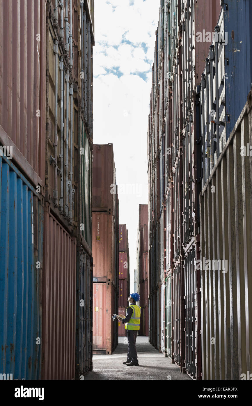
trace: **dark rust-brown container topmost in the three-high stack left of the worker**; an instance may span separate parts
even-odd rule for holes
[[[93,212],[112,212],[117,195],[113,144],[93,145]]]

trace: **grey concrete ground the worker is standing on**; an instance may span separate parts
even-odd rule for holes
[[[138,336],[136,348],[139,367],[127,367],[127,338],[119,337],[119,345],[111,355],[94,354],[93,371],[85,375],[85,380],[139,379],[139,380],[191,380],[187,374],[181,374],[178,365],[156,350],[148,342],[148,337]]]

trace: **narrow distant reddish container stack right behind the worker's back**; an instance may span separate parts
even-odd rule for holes
[[[149,253],[148,253],[148,205],[139,205],[137,240],[137,290],[142,308],[139,335],[149,335]]]

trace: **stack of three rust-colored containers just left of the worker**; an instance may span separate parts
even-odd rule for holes
[[[119,200],[113,145],[93,146],[93,353],[118,344]]]

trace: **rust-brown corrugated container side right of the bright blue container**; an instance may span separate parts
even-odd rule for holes
[[[42,379],[74,379],[76,242],[44,208]]]

